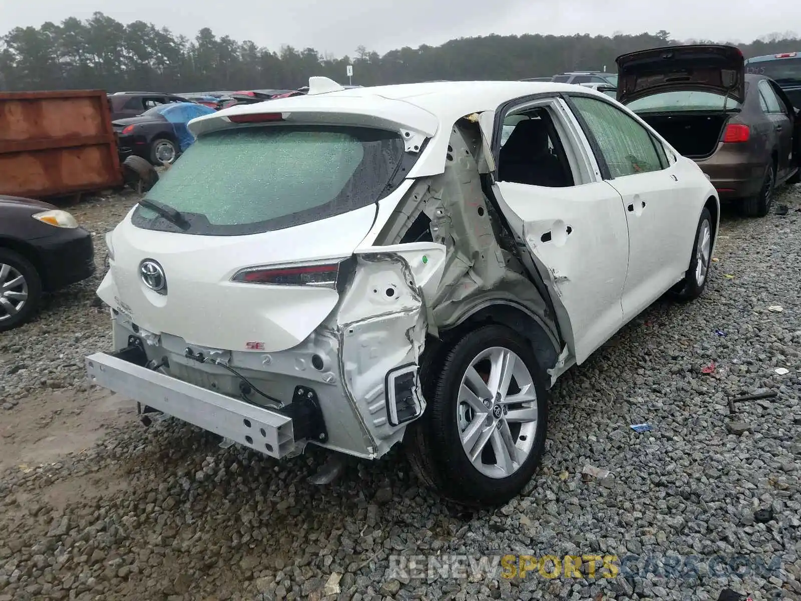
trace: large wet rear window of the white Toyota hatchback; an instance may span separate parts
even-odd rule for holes
[[[400,134],[370,127],[269,125],[201,135],[145,200],[177,211],[175,224],[138,205],[138,228],[242,236],[290,228],[376,203],[417,154]]]

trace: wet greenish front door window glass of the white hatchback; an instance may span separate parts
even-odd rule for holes
[[[586,96],[574,97],[573,102],[598,141],[613,178],[664,168],[650,132],[629,115]]]

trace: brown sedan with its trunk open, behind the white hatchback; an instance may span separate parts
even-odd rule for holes
[[[799,181],[801,117],[777,83],[746,75],[735,46],[670,46],[617,59],[618,100],[694,159],[751,216]]]

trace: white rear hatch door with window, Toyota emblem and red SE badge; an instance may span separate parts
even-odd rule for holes
[[[293,115],[199,135],[145,196],[161,212],[138,205],[113,232],[99,296],[139,328],[195,345],[276,352],[308,337],[336,306],[378,204],[411,186],[417,151],[400,130],[332,123],[354,115]]]

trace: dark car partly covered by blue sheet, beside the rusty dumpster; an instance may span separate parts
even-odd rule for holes
[[[170,103],[153,107],[138,117],[113,121],[120,159],[134,155],[153,165],[173,163],[195,140],[187,123],[214,112],[202,104]]]

